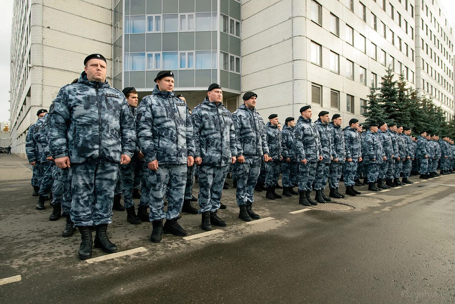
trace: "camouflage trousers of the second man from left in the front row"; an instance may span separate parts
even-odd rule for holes
[[[150,221],[166,218],[172,220],[182,211],[187,164],[160,164],[158,170],[150,170],[147,180],[149,192]],[[167,195],[167,211],[164,212],[164,196]]]

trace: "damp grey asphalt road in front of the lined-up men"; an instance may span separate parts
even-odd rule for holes
[[[77,258],[79,232],[61,237],[64,219],[48,220],[49,202],[35,210],[30,177],[25,160],[0,155],[0,279],[20,275],[0,281],[2,304],[455,302],[455,175],[373,194],[356,187],[361,196],[337,200],[352,211],[290,214],[303,209],[297,197],[257,193],[254,209],[273,219],[253,224],[237,218],[231,188],[222,232],[158,244],[151,223],[114,211],[108,233],[119,251],[146,251],[96,263]],[[179,222],[203,232],[200,216]],[[92,258],[103,256],[94,249]]]

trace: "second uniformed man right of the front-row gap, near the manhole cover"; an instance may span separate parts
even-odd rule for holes
[[[321,111],[318,114],[318,120],[316,121],[316,127],[319,132],[319,140],[321,143],[322,160],[316,165],[316,179],[314,181],[314,190],[316,190],[316,196],[314,199],[319,203],[324,204],[326,201],[332,201],[331,198],[324,194],[325,186],[327,185],[327,179],[329,178],[329,167],[330,162],[333,159],[333,142],[329,132],[329,112]]]

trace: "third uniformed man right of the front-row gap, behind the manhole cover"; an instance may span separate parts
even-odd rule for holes
[[[332,116],[332,122],[329,124],[330,141],[333,144],[332,161],[329,167],[329,188],[330,197],[344,198],[345,196],[338,192],[338,184],[343,171],[343,164],[346,160],[346,151],[344,145],[344,133],[341,130],[343,119],[340,114]]]

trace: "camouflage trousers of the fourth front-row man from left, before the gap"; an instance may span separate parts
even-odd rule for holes
[[[234,170],[237,179],[236,200],[238,206],[251,205],[254,202],[253,191],[261,170],[261,156],[243,155],[244,163],[236,161]]]

